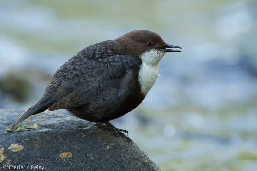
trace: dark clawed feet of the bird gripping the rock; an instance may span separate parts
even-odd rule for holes
[[[101,128],[107,128],[110,131],[114,132],[116,134],[116,137],[118,137],[120,135],[123,138],[125,138],[130,144],[132,144],[132,140],[127,136],[127,135],[129,135],[129,132],[127,130],[116,128],[110,122],[105,122],[105,124],[106,125],[96,123],[96,124],[92,125],[92,127],[97,126],[97,127],[101,127]],[[127,135],[125,135],[123,132],[127,133]]]

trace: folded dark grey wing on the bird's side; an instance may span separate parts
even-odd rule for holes
[[[49,110],[83,106],[97,99],[103,91],[119,88],[127,71],[138,69],[141,59],[132,55],[113,55],[88,68],[88,77],[73,92],[67,94]]]

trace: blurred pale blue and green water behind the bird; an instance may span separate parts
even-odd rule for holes
[[[162,171],[256,171],[256,21],[256,0],[1,0],[0,108],[33,105],[84,47],[151,30],[183,51],[164,56],[142,104],[112,123]]]

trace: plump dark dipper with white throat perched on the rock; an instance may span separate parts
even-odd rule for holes
[[[28,108],[15,125],[31,115],[67,109],[81,119],[105,123],[117,136],[132,142],[109,121],[135,109],[158,76],[158,62],[166,52],[181,52],[148,30],[135,30],[114,40],[88,46],[54,74],[43,97]],[[123,131],[123,132],[122,132]]]

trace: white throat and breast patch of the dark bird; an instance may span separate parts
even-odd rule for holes
[[[138,81],[140,84],[141,93],[143,93],[145,96],[153,87],[157,79],[159,73],[158,62],[165,55],[165,53],[166,52],[163,50],[152,49],[150,51],[146,51],[140,56],[142,64],[140,65],[138,72]]]

